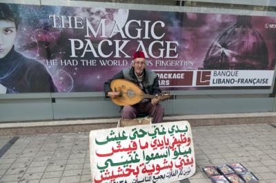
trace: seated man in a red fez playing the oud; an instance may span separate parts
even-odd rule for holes
[[[122,69],[121,72],[113,76],[104,83],[106,97],[115,98],[119,92],[112,92],[110,83],[112,80],[124,78],[136,83],[146,94],[157,95],[161,93],[159,88],[158,76],[154,72],[146,69],[146,58],[143,52],[135,52],[132,56],[132,67]],[[164,108],[159,104],[157,98],[151,100],[144,98],[135,105],[126,105],[122,109],[121,118],[133,119],[137,114],[148,113],[153,117],[153,123],[162,122]]]

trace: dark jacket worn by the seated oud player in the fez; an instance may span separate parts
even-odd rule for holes
[[[110,83],[112,82],[112,80],[119,79],[119,78],[128,79],[133,83],[136,83],[137,85],[139,85],[138,80],[135,76],[133,67],[122,69],[121,72],[119,72],[118,74],[113,76],[110,80],[104,83],[104,92],[106,92],[106,96],[108,92],[112,91],[112,89],[110,88]],[[144,87],[143,90],[146,94],[155,95],[155,94],[161,93],[157,74],[155,74],[155,72],[152,72],[148,69],[144,69],[144,80],[142,81],[142,85]]]

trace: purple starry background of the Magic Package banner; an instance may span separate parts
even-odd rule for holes
[[[137,48],[141,50],[141,45],[144,45],[148,55],[148,68],[155,70],[272,70],[275,66],[276,29],[270,26],[275,24],[275,17],[247,16],[245,21],[249,21],[250,26],[238,28],[238,16],[228,14],[28,5],[19,5],[19,8],[22,21],[17,30],[15,50],[46,65],[59,92],[103,91],[103,83],[108,78],[121,69],[131,67],[132,53]],[[54,14],[56,19],[51,17]],[[70,16],[72,27],[75,26],[74,17],[83,17],[83,21],[77,19],[81,21],[77,26],[83,25],[83,28],[69,28],[68,23],[65,23],[65,28],[62,28],[61,16],[65,16],[64,20],[67,21]],[[92,25],[96,31],[103,19],[105,19],[106,37],[103,36],[101,27],[97,36],[93,36],[92,32],[87,30],[87,25]],[[130,36],[137,36],[140,29],[141,36],[138,38],[128,36],[126,23],[130,23],[127,29]],[[152,25],[155,25],[154,28]],[[122,28],[121,32],[120,28]],[[226,31],[228,35],[224,35]],[[155,35],[151,34],[152,32]],[[253,35],[254,32],[258,34],[257,39],[252,38],[256,37]],[[110,36],[111,33],[113,36]],[[224,37],[219,39],[219,36]],[[72,39],[75,42],[72,42]],[[221,44],[222,40],[226,45]],[[153,44],[154,41],[161,42]],[[88,46],[87,50],[91,50],[88,42],[95,48],[98,57],[92,51],[83,54],[86,46]],[[116,44],[119,43],[121,46],[124,42],[126,45],[121,49],[122,52],[118,51],[119,47]],[[83,43],[83,48],[77,50],[79,43]],[[215,46],[216,43],[218,43],[217,46]],[[262,43],[265,44],[266,49],[262,48],[264,47]],[[107,58],[100,56],[99,44],[101,44],[101,52],[110,56]],[[150,44],[153,46],[148,49]],[[241,49],[243,47],[249,48],[243,50]],[[160,51],[162,49],[164,54],[159,56],[163,52]],[[75,56],[72,50],[75,50]],[[150,52],[157,58],[153,58]],[[208,52],[213,52],[211,53],[213,56],[221,56],[221,58],[226,56],[228,60],[234,61],[234,65],[208,67],[208,64],[204,65]],[[253,52],[257,52],[256,56],[252,56]],[[236,63],[239,62],[237,67]],[[261,66],[259,62],[263,62]],[[247,67],[246,63],[251,63],[251,67]]]

